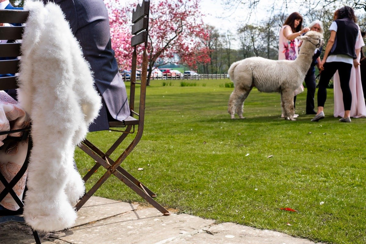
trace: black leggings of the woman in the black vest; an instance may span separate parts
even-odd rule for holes
[[[318,88],[318,106],[324,107],[326,101],[326,87],[330,79],[338,70],[341,90],[343,93],[344,110],[351,110],[352,93],[350,89],[352,64],[343,62],[329,62],[324,64],[324,70],[321,72]]]

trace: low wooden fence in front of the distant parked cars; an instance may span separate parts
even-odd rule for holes
[[[126,74],[121,74],[124,81],[130,80],[130,76]],[[182,74],[182,75],[172,75],[172,74],[163,74],[163,76],[151,77],[150,80],[207,80],[207,79],[226,79],[228,78],[227,74],[198,74],[198,75],[190,75],[190,74]],[[140,80],[140,75],[136,75],[136,79]]]

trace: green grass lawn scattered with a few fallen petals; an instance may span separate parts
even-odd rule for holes
[[[224,87],[229,79],[192,82],[197,86],[151,82],[144,135],[122,164],[157,193],[157,202],[314,241],[366,243],[366,119],[340,123],[329,89],[324,120],[305,115],[305,90],[296,100],[300,116],[285,121],[280,95],[253,89],[244,104],[246,119],[231,120],[232,88]],[[103,131],[88,138],[107,147],[116,136]],[[80,150],[76,160],[82,175],[93,165]],[[96,195],[144,201],[114,176]],[[297,212],[280,210],[286,207]]]

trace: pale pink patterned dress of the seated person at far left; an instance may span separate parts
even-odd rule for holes
[[[25,128],[29,125],[25,111],[20,108],[18,102],[12,99],[4,91],[0,91],[0,131],[9,131],[10,129]],[[10,136],[22,136],[23,132],[10,134]],[[10,182],[19,169],[22,167],[28,149],[28,140],[21,142],[12,142],[3,140],[8,135],[0,135],[0,173]],[[16,195],[22,199],[25,189],[27,173],[18,181],[13,188]],[[0,182],[0,192],[4,189],[4,185]],[[10,210],[18,210],[19,206],[14,199],[7,194],[0,202],[1,206]]]

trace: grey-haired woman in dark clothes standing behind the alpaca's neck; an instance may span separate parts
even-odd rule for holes
[[[308,26],[310,30],[318,31],[319,33],[323,34],[323,23],[320,20],[314,20],[310,23]],[[315,115],[317,112],[315,112],[314,108],[314,96],[315,96],[315,65],[317,65],[319,70],[319,64],[320,64],[320,53],[321,49],[315,49],[314,56],[313,56],[313,62],[311,62],[309,71],[307,71],[307,74],[305,76],[305,84],[307,88],[307,94],[306,94],[306,114],[307,115]]]

